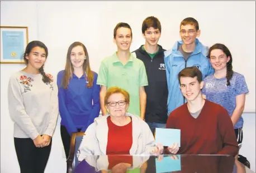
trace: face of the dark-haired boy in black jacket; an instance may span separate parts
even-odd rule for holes
[[[146,29],[143,36],[148,45],[154,46],[154,45],[157,45],[159,38],[161,36],[161,33],[160,33],[159,29],[150,27],[150,28]]]

